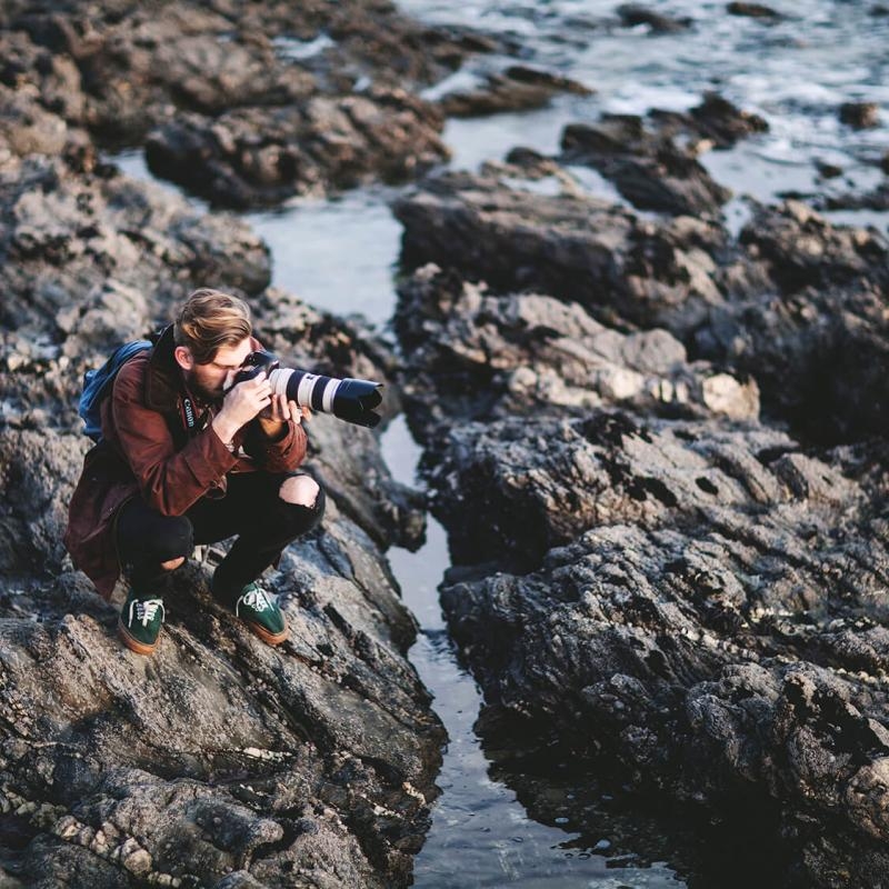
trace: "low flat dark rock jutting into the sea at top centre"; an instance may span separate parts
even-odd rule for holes
[[[440,104],[448,117],[468,118],[542,108],[553,96],[562,92],[589,96],[592,90],[570,78],[536,68],[511,66],[502,73],[490,74],[479,89],[448,93]]]

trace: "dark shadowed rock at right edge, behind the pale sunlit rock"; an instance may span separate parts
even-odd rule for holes
[[[752,373],[769,412],[807,437],[882,434],[889,243],[795,202],[757,212],[741,242],[772,284],[715,309],[696,352]]]

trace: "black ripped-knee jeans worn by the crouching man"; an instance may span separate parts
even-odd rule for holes
[[[314,528],[324,513],[319,485],[314,505],[288,503],[281,485],[306,472],[242,472],[229,476],[226,496],[202,497],[184,516],[162,516],[141,497],[127,501],[117,520],[116,542],[123,573],[137,596],[163,596],[170,572],[161,562],[188,558],[198,543],[238,535],[213,575],[213,592],[229,598],[256,580],[283,548]],[[311,477],[309,477],[311,478]]]

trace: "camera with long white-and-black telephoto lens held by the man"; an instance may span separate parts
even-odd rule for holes
[[[382,401],[382,383],[351,377],[338,380],[308,370],[282,368],[276,356],[259,350],[247,356],[234,374],[232,386],[252,380],[260,371],[266,372],[274,394],[287,396],[288,401],[296,401],[302,408],[332,413],[340,420],[369,429],[373,429],[381,419],[373,408]]]

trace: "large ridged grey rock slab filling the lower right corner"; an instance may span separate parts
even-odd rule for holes
[[[547,726],[716,812],[777,812],[809,885],[866,883],[889,866],[887,662],[862,659],[886,613],[855,590],[882,585],[887,551],[847,561],[846,582],[825,576],[859,535],[879,538],[835,535],[829,513],[809,537],[813,511],[597,527],[537,571],[453,582],[442,601],[486,700],[523,735]]]

